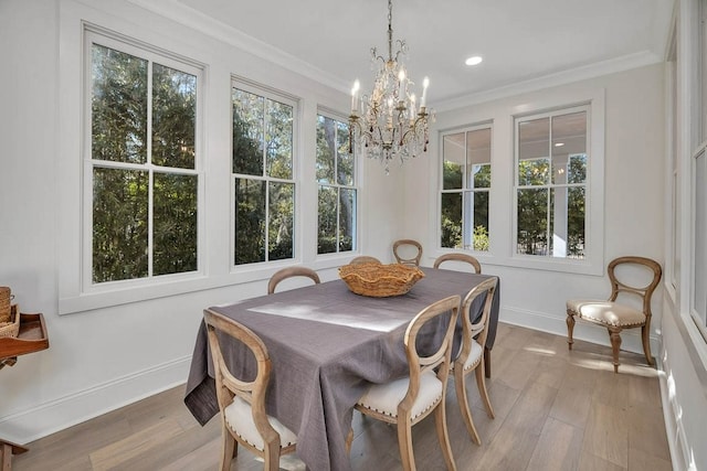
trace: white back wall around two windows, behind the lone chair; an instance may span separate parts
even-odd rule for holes
[[[564,301],[570,298],[605,298],[610,292],[605,263],[621,255],[643,255],[664,260],[664,87],[663,65],[653,65],[577,82],[534,93],[479,103],[440,113],[436,130],[493,121],[490,232],[503,246],[479,254],[484,272],[502,280],[500,319],[560,335],[567,334]],[[515,110],[542,103],[562,103],[563,97],[604,94],[604,256],[601,276],[513,266],[510,217],[513,215],[513,118]],[[566,101],[566,105],[572,105]],[[407,233],[425,240],[425,264],[441,254],[436,249],[439,139],[431,139],[428,162],[405,169]],[[591,163],[590,163],[591,164]],[[505,184],[504,184],[505,183]],[[495,186],[495,185],[500,185]],[[504,231],[504,234],[498,232]],[[492,244],[493,244],[492,235]],[[657,354],[662,290],[654,296],[652,339]],[[579,323],[578,339],[609,344],[604,329]],[[642,352],[640,331],[622,334],[622,347]]]

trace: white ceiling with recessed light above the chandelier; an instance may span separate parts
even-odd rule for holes
[[[213,19],[342,90],[356,78],[369,89],[370,49],[387,51],[387,0],[133,1],[181,9],[196,23]],[[672,9],[673,0],[394,0],[392,28],[394,40],[408,42],[418,89],[430,77],[435,106],[547,76],[659,62]],[[484,62],[464,65],[475,54]]]

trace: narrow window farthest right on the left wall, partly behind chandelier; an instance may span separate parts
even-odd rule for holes
[[[349,125],[317,116],[317,254],[356,250],[356,159]]]

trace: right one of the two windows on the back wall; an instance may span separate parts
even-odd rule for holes
[[[588,107],[515,125],[516,254],[584,258]]]

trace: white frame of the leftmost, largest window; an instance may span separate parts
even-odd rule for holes
[[[169,281],[187,281],[199,279],[203,277],[204,271],[204,254],[205,254],[205,189],[204,189],[204,165],[203,165],[203,82],[204,82],[204,66],[196,63],[189,58],[182,57],[178,54],[162,51],[155,46],[146,45],[137,40],[126,38],[124,35],[107,31],[105,29],[94,26],[92,24],[84,24],[83,30],[83,53],[82,53],[82,228],[81,228],[81,295],[105,293],[115,292],[117,290],[135,289],[135,288],[149,288],[156,285],[162,285]],[[160,65],[168,66],[170,68],[178,69],[180,72],[189,73],[197,77],[197,106],[196,106],[196,122],[194,122],[194,168],[193,169],[180,169],[180,168],[165,168],[156,165],[148,161],[144,164],[133,164],[126,162],[95,162],[92,156],[92,45],[98,44],[105,47],[109,47],[123,53],[127,53],[140,58],[149,61],[150,64],[159,63]],[[148,129],[147,136],[148,142],[151,142],[151,66],[148,67],[150,74],[148,75],[148,100],[147,100],[147,115],[148,115]],[[151,148],[150,143],[147,143],[148,149]],[[149,213],[148,225],[151,228],[152,220],[152,176],[155,172],[169,173],[169,174],[191,174],[197,176],[197,270],[180,272],[180,274],[167,274],[167,275],[152,275],[152,263],[149,263],[148,276],[144,278],[134,278],[125,280],[105,281],[101,283],[93,282],[93,170],[95,168],[112,168],[112,169],[137,169],[140,168],[149,173],[150,190],[148,193],[149,199]],[[148,234],[148,248],[150,249],[149,259],[152,259],[151,250],[152,234]]]

